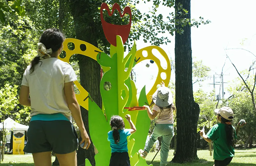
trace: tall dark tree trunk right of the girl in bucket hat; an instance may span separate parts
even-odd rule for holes
[[[190,0],[176,0],[188,10],[185,18],[190,19]],[[177,17],[176,17],[177,19]],[[176,25],[177,28],[180,28]],[[199,105],[195,103],[192,86],[191,29],[183,27],[184,34],[175,32],[175,95],[177,108],[177,149],[172,162],[190,162],[197,158],[196,135]]]

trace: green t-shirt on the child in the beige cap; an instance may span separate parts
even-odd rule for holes
[[[213,142],[213,159],[225,160],[228,157],[234,157],[234,147],[229,146],[227,142],[227,135],[225,131],[225,124],[219,123],[214,125],[206,136]],[[233,127],[233,126],[232,126]],[[234,139],[237,138],[236,130],[234,129]]]

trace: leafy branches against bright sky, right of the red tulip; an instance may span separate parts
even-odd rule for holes
[[[143,2],[146,4],[147,2],[152,1],[153,6],[150,9],[149,13],[144,13],[141,17],[138,25],[133,32],[133,35],[136,35],[139,39],[140,36],[143,36],[144,42],[147,43],[148,41],[156,46],[159,46],[160,44],[167,44],[170,43],[171,40],[165,35],[165,33],[170,33],[172,36],[174,35],[174,32],[177,32],[179,34],[183,34],[184,30],[182,27],[185,27],[187,25],[189,26],[197,26],[201,24],[209,24],[211,21],[207,20],[204,21],[204,18],[199,18],[199,20],[196,19],[188,19],[185,16],[189,14],[189,11],[184,9],[182,7],[182,4],[175,4],[174,0],[143,0]],[[137,4],[140,3],[140,1],[134,1]],[[158,7],[160,5],[163,5],[167,7],[167,10],[170,10],[170,8],[174,7],[176,10],[175,12],[170,12],[169,15],[164,18],[162,14],[157,14]],[[140,16],[140,13],[138,13],[138,16]],[[192,23],[191,23],[192,21]],[[181,28],[175,27],[175,25],[181,25]]]

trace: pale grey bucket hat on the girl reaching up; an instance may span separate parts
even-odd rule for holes
[[[172,92],[167,87],[159,87],[152,95],[153,102],[159,107],[167,107],[172,104]]]

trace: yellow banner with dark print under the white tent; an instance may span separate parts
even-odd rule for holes
[[[25,131],[13,131],[13,155],[24,155]]]

